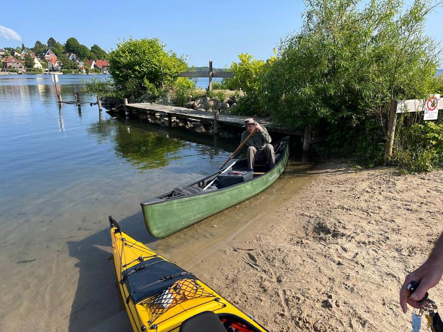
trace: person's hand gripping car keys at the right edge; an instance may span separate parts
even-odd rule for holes
[[[431,257],[417,270],[408,274],[400,289],[400,306],[403,313],[408,311],[406,303],[414,308],[420,308],[420,300],[425,296],[429,288],[432,288],[439,283],[440,279],[442,279],[442,275],[443,262]],[[410,294],[407,289],[407,286],[411,281],[420,283],[412,294]]]

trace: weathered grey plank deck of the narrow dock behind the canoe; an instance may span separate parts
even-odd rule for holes
[[[186,119],[200,120],[205,122],[214,121],[213,112],[197,111],[185,107],[166,106],[166,105],[151,104],[151,103],[132,103],[132,104],[127,104],[126,107],[132,110],[142,110],[142,111],[160,113],[168,116],[175,116]],[[219,124],[222,125],[241,127],[243,126],[244,120],[248,117],[249,116],[219,114],[218,122]],[[269,118],[255,117],[254,119],[261,125],[265,126],[270,132],[304,136],[303,131],[293,131],[283,126],[277,126]]]

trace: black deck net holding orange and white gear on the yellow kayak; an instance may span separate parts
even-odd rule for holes
[[[162,292],[147,298],[139,304],[146,305],[151,309],[151,316],[148,323],[154,324],[155,321],[170,308],[184,301],[199,297],[215,297],[215,295],[203,289],[203,287],[193,279],[181,279]]]

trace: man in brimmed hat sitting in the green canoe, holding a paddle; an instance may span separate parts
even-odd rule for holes
[[[265,127],[254,121],[253,118],[246,119],[243,127],[246,130],[241,134],[240,142],[244,142],[246,138],[256,129],[255,133],[249,138],[249,140],[237,151],[237,153],[229,156],[229,159],[238,158],[239,155],[246,150],[246,156],[248,158],[248,168],[250,171],[254,170],[254,164],[267,163],[269,168],[273,168],[276,164],[276,155],[274,152],[274,146],[272,146],[271,136]]]

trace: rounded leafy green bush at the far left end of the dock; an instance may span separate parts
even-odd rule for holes
[[[172,88],[187,68],[183,59],[164,48],[158,39],[131,38],[109,53],[111,76],[129,99],[151,95],[154,100],[165,88]]]

